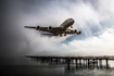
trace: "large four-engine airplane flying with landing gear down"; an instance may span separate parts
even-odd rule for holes
[[[74,20],[73,18],[67,18],[66,21],[64,21],[59,27],[34,27],[34,26],[25,26],[25,28],[33,28],[36,30],[41,30],[41,31],[47,31],[47,33],[51,33],[52,36],[60,36],[62,37],[63,35],[71,35],[71,34],[81,34],[81,31],[77,31],[77,29],[69,29],[68,27],[73,28],[73,24],[74,24]]]

